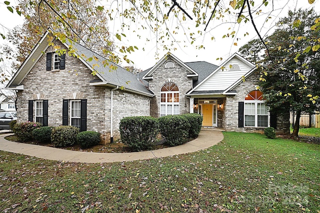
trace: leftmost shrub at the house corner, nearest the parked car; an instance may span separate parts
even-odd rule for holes
[[[32,139],[32,130],[41,126],[38,122],[20,122],[14,124],[12,131],[19,140],[28,141]]]

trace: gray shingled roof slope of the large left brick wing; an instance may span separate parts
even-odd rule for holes
[[[70,44],[70,43],[67,43],[67,44]],[[76,53],[79,56],[84,54],[85,57],[89,58],[94,55],[98,58],[98,61],[94,59],[91,61],[85,60],[85,58],[83,59],[90,67],[94,67],[94,69],[98,72],[98,74],[101,77],[103,77],[106,83],[112,84],[115,86],[123,86],[126,89],[142,92],[148,95],[153,95],[151,91],[149,91],[139,80],[136,79],[136,75],[132,74],[131,72],[127,71],[126,69],[122,68],[121,66],[109,60],[108,60],[109,64],[104,66],[102,64],[102,61],[107,60],[106,58],[82,46],[79,43],[74,42],[72,43],[72,46],[74,49],[76,49]],[[94,64],[97,64],[97,66]],[[109,68],[110,65],[115,66],[116,69],[110,70]]]

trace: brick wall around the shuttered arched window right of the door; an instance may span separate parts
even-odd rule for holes
[[[238,102],[244,101],[245,95],[252,90],[255,90],[255,85],[258,83],[258,73],[252,73],[249,77],[245,78],[244,82],[238,84],[234,89],[236,95],[229,95],[226,97],[224,105],[224,128],[227,131],[242,131],[242,132],[255,132],[261,131],[263,127],[238,127]],[[286,121],[287,119],[287,121]],[[289,133],[289,116],[277,114],[277,133]],[[270,120],[268,120],[270,123]]]

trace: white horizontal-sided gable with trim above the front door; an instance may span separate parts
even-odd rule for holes
[[[234,53],[189,92],[225,91],[253,71],[255,65]]]

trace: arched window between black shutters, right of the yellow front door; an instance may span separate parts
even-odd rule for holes
[[[250,91],[244,98],[244,126],[267,127],[268,108],[262,100],[262,92]]]

